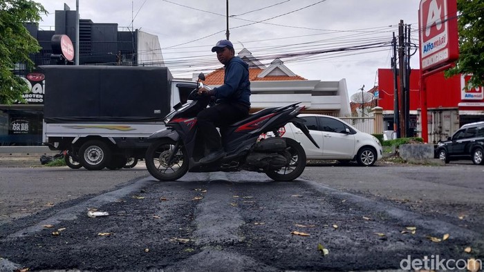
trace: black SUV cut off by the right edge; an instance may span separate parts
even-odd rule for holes
[[[446,164],[454,159],[472,159],[474,164],[484,164],[484,122],[465,124],[436,148],[439,159]]]

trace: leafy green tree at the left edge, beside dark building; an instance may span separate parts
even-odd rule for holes
[[[0,0],[0,104],[24,101],[26,81],[13,74],[15,64],[34,66],[29,54],[39,52],[37,39],[25,28],[25,22],[38,22],[47,10],[30,0]]]

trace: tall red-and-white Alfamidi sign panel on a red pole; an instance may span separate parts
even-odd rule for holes
[[[458,59],[456,0],[420,1],[418,22],[422,70],[431,70]]]

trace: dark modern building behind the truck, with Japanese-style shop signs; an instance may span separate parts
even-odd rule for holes
[[[41,50],[31,57],[36,67],[59,64],[58,59],[52,58],[54,35],[67,35],[73,44],[79,43],[80,65],[165,66],[156,35],[140,30],[120,30],[117,23],[80,19],[79,41],[76,41],[75,20],[75,10],[64,4],[64,10],[55,11],[54,30],[43,30],[37,23],[26,23],[30,35],[41,46]],[[61,64],[73,63],[65,61]],[[14,73],[27,81],[30,93],[24,95],[27,104],[0,104],[0,146],[41,145],[46,88],[43,75],[26,70],[23,64],[17,64]]]

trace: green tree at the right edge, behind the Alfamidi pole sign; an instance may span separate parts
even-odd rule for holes
[[[484,0],[457,0],[459,58],[447,77],[472,74],[465,88],[484,86]]]

